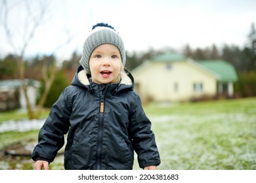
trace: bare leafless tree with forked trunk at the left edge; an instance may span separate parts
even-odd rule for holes
[[[41,110],[43,108],[43,105],[45,103],[45,99],[49,93],[49,90],[51,88],[51,85],[53,84],[54,77],[56,75],[56,64],[53,64],[51,66],[51,73],[50,75],[47,75],[47,67],[46,65],[43,66],[42,72],[43,72],[43,81],[45,82],[45,90],[43,91],[43,95],[39,101],[39,105],[37,105],[36,108],[32,108],[32,104],[30,102],[30,97],[28,96],[28,85],[25,80],[25,61],[24,56],[26,53],[26,50],[28,48],[28,45],[32,42],[35,32],[37,31],[39,25],[42,24],[43,18],[45,18],[45,14],[47,12],[47,1],[37,1],[39,3],[39,10],[33,10],[32,13],[30,3],[28,1],[22,1],[24,3],[24,7],[26,10],[26,21],[24,22],[24,35],[18,35],[19,37],[23,37],[21,44],[16,43],[14,32],[17,31],[15,29],[11,29],[9,26],[9,15],[11,14],[11,8],[6,0],[2,0],[1,6],[2,6],[2,20],[3,20],[3,29],[5,30],[5,34],[7,36],[7,39],[9,41],[9,44],[12,48],[12,51],[14,52],[14,55],[18,58],[18,72],[19,77],[22,82],[22,91],[24,92],[25,99],[26,99],[26,108],[28,112],[28,118],[39,118],[39,114],[41,113]],[[21,1],[18,1],[17,3],[21,3]],[[28,25],[29,24],[29,25]]]

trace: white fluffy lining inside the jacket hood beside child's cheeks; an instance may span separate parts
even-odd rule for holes
[[[133,82],[131,81],[131,78],[129,76],[127,76],[127,74],[125,72],[121,72],[120,73],[121,76],[121,82],[120,84],[125,84],[125,85],[132,85]],[[79,73],[77,74],[78,80],[84,84],[84,85],[89,85],[89,80],[87,78],[87,73],[86,71],[83,69],[81,71],[79,71]]]

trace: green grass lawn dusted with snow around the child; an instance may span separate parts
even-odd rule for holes
[[[158,169],[256,169],[256,98],[151,103],[144,110],[152,121],[160,150]],[[5,113],[3,116],[9,120],[15,115]],[[0,133],[0,146],[22,139],[37,139],[37,133],[36,130]],[[0,160],[0,166],[1,163],[6,165],[7,162]],[[57,157],[51,169],[63,169],[61,164],[62,157]],[[5,167],[8,169],[8,165]],[[31,165],[27,167],[30,169]],[[134,168],[139,169],[137,159]]]

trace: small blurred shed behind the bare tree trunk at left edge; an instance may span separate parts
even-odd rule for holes
[[[37,90],[40,82],[37,80],[25,80],[28,86],[28,96],[32,107],[36,105]],[[15,108],[26,109],[26,99],[22,90],[21,80],[0,80],[0,111]]]

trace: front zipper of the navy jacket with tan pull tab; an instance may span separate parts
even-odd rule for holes
[[[103,123],[104,123],[104,95],[100,92],[100,118],[98,124],[98,147],[97,147],[97,164],[96,169],[100,170],[100,161],[102,156],[102,137],[103,137]]]

